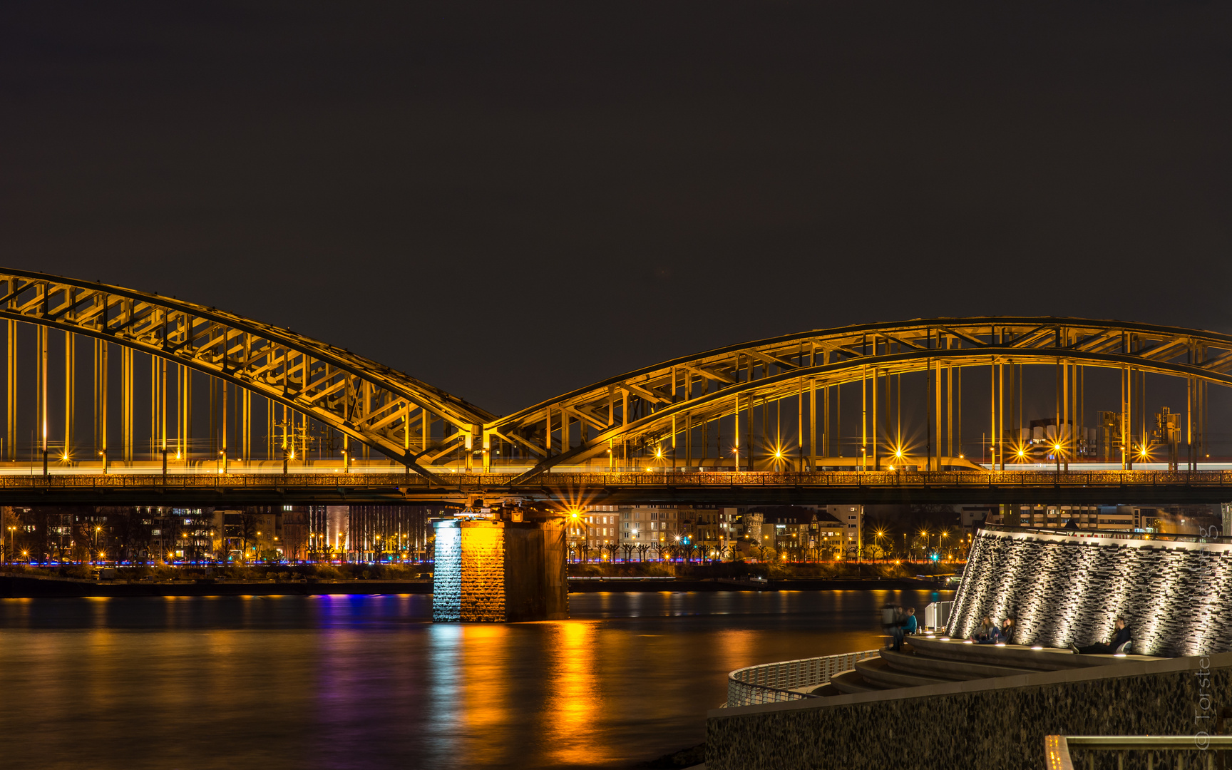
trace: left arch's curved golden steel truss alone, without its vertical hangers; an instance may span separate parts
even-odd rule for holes
[[[488,411],[347,350],[181,299],[41,272],[0,270],[0,318],[63,329],[172,361],[308,414],[430,476],[416,425],[478,436]],[[471,444],[471,441],[466,441]],[[453,442],[451,442],[451,446]]]

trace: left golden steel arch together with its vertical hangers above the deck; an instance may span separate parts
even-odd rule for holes
[[[121,352],[121,413],[124,460],[133,460],[133,362],[132,354],[149,354],[152,367],[152,445],[165,461],[169,450],[168,365],[182,367],[180,383],[191,382],[184,370],[202,372],[238,388],[238,423],[243,453],[251,453],[251,394],[310,416],[347,439],[397,457],[408,469],[426,474],[416,462],[430,453],[430,428],[452,428],[453,437],[435,447],[447,453],[460,442],[471,444],[483,423],[493,415],[347,350],[251,319],[175,298],[138,292],[105,283],[76,281],[39,272],[0,272],[0,318],[9,319],[7,333],[7,453],[16,460],[17,425],[17,326],[25,322],[37,329],[36,411],[42,425],[42,452],[48,455],[48,338],[52,329],[65,338],[65,441],[73,446],[75,352],[73,335],[92,338],[95,345],[95,448],[106,463],[108,457],[107,344]],[[225,394],[225,392],[224,392]],[[176,394],[191,403],[191,392]],[[224,397],[223,407],[228,399]],[[290,414],[287,418],[290,419]],[[176,415],[184,429],[185,415]],[[227,421],[223,420],[225,428]],[[222,434],[224,461],[234,447]],[[294,447],[280,447],[293,455]],[[184,453],[184,451],[181,451]],[[64,452],[68,457],[68,451]]]

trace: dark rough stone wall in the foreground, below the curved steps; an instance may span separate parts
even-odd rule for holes
[[[706,768],[1039,770],[1045,736],[1226,733],[1218,719],[1230,706],[1226,653],[717,708],[706,721]],[[1195,755],[1186,766],[1198,766]],[[1095,766],[1115,763],[1104,754]],[[1145,755],[1131,753],[1125,768],[1146,768]]]

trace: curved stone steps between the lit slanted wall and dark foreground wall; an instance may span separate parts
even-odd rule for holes
[[[909,637],[903,644],[903,652],[883,649],[878,658],[856,662],[855,670],[835,675],[829,684],[812,692],[814,695],[875,692],[1158,659],[1124,654],[1077,655],[1068,649],[1021,644],[975,644],[963,639],[923,634]]]

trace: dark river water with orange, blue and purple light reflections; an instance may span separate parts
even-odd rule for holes
[[[877,646],[928,591],[0,600],[9,768],[630,768],[701,743],[728,670]],[[945,598],[949,598],[946,594]]]

